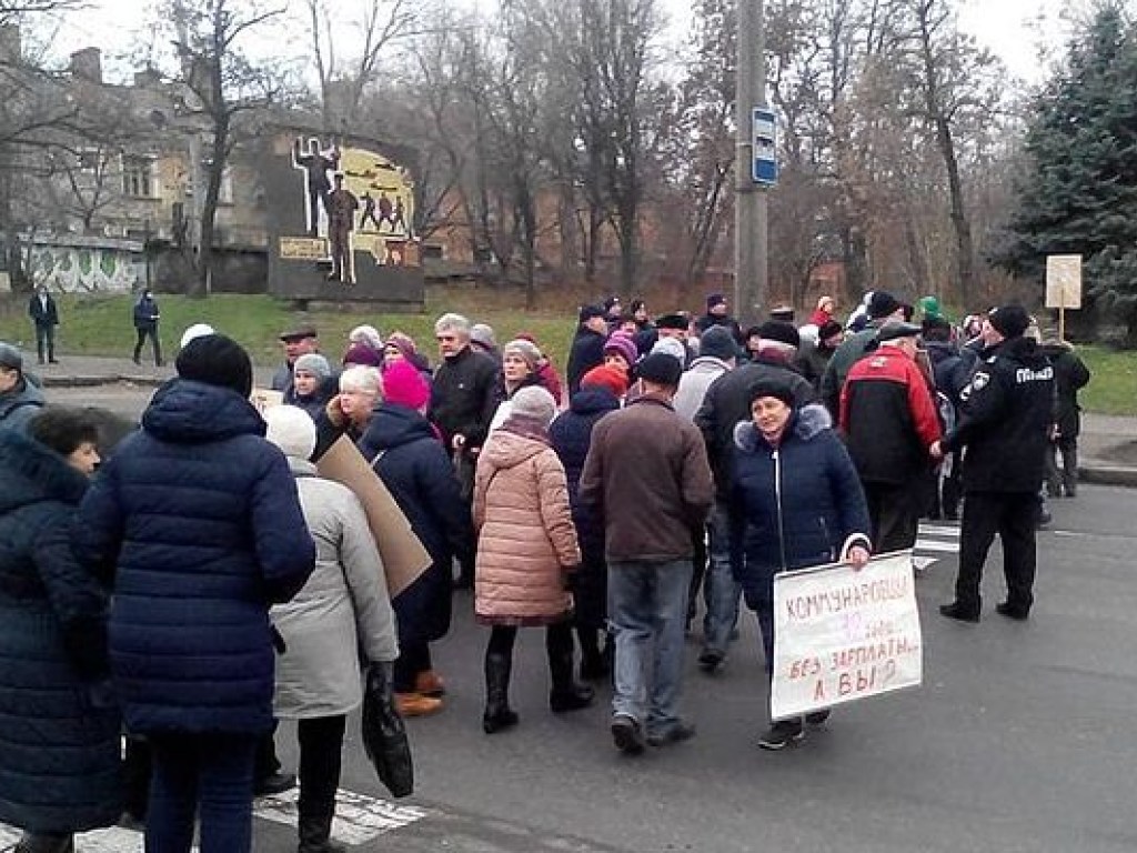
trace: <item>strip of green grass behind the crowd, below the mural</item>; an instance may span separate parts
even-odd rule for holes
[[[56,348],[61,355],[128,356],[134,346],[132,320],[133,298],[130,296],[61,296],[60,326]],[[277,336],[299,318],[313,322],[319,330],[323,350],[339,359],[347,349],[348,332],[357,325],[370,323],[383,334],[399,330],[412,338],[432,359],[434,321],[446,312],[465,314],[475,323],[489,323],[499,343],[518,332],[532,334],[541,348],[563,368],[576,328],[575,312],[571,309],[539,309],[526,312],[521,306],[520,291],[481,288],[429,289],[426,308],[420,314],[381,314],[367,310],[313,310],[298,314],[287,303],[267,296],[217,295],[208,299],[188,299],[168,293],[158,295],[161,308],[159,336],[163,351],[171,357],[186,326],[209,323],[221,332],[240,341],[252,361],[272,365],[280,361]],[[17,297],[9,310],[0,314],[0,340],[15,343],[25,353],[35,350],[35,333],[25,314],[26,298]]]

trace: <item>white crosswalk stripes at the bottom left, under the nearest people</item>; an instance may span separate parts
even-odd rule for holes
[[[297,797],[293,788],[271,797],[258,797],[254,803],[254,821],[267,820],[296,827]],[[340,789],[335,795],[335,820],[332,840],[349,847],[367,844],[384,833],[414,823],[426,817],[426,810],[413,805],[397,805],[389,800]],[[254,833],[256,827],[254,826]],[[22,833],[0,823],[0,851],[16,846]],[[76,836],[76,850],[83,853],[141,853],[142,834],[123,827],[109,827]],[[197,846],[193,847],[197,851]]]

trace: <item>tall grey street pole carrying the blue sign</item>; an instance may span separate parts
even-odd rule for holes
[[[765,106],[766,63],[763,0],[738,0],[735,116],[735,312],[746,323],[766,314],[766,188],[753,180],[755,107]]]

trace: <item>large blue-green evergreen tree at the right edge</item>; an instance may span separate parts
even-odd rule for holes
[[[993,260],[1041,282],[1047,255],[1081,255],[1085,308],[1137,346],[1137,32],[1097,9],[1032,105],[1016,210]]]

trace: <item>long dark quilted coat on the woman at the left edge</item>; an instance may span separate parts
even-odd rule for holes
[[[0,431],[0,822],[66,835],[122,810],[107,594],[70,550],[88,479]]]

